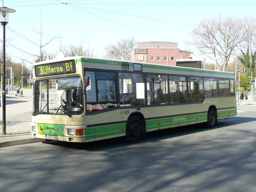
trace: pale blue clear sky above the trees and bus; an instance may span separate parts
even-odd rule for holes
[[[202,58],[185,43],[191,40],[190,34],[200,21],[220,15],[256,17],[255,0],[4,0],[4,4],[1,1],[4,7],[16,10],[9,13],[6,26],[6,54],[14,62],[25,60],[28,68],[36,58],[24,52],[39,55],[41,25],[43,44],[58,37],[44,47],[47,52],[59,52],[60,45],[82,44],[83,50],[89,49],[93,57],[101,58],[106,56],[108,45],[134,37],[137,42],[178,43],[181,50],[191,50],[195,57]]]

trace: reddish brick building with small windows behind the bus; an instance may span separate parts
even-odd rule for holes
[[[131,60],[176,66],[177,59],[188,59],[192,53],[180,50],[178,43],[149,41],[137,43],[135,50],[131,51]]]

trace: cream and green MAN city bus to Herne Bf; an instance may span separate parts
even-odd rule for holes
[[[236,116],[235,74],[142,62],[69,57],[33,65],[31,134],[91,142],[137,142],[191,124]]]

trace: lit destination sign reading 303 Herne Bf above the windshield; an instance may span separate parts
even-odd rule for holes
[[[75,60],[35,65],[36,77],[75,73]]]

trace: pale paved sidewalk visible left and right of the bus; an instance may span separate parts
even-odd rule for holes
[[[248,97],[249,105],[237,105],[237,113],[256,111],[256,101]],[[45,141],[31,136],[32,107],[32,89],[23,89],[23,97],[15,96],[14,91],[6,95],[6,135],[0,124],[0,148]]]

